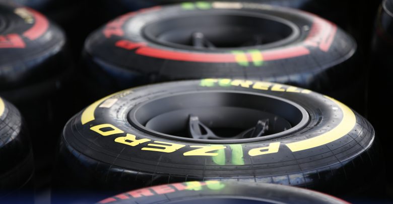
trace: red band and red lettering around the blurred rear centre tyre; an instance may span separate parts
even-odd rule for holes
[[[159,8],[152,8],[146,11],[156,10]],[[146,11],[140,11],[141,13]],[[105,37],[109,38],[112,35],[123,36],[122,26],[126,20],[135,16],[136,13],[129,13],[121,16],[117,20],[109,23],[104,29]],[[334,37],[337,33],[337,26],[329,21],[323,20],[317,16],[312,15],[314,22],[309,32],[308,37],[301,43],[273,50],[260,51],[263,61],[287,59],[299,57],[310,54],[310,50],[306,46],[318,47],[320,50],[327,52],[333,44]],[[233,53],[200,53],[184,50],[169,50],[150,47],[145,42],[133,42],[126,39],[119,40],[115,46],[127,50],[137,49],[136,54],[177,60],[177,61],[193,61],[193,62],[207,62],[207,63],[237,63],[236,55]],[[252,62],[252,57],[246,54],[246,60]]]

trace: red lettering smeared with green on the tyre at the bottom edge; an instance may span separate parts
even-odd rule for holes
[[[184,182],[184,183],[173,183],[173,184],[166,184],[166,185],[159,185],[159,186],[153,186],[149,188],[142,188],[138,190],[132,190],[128,191],[122,194],[115,195],[110,198],[106,198],[104,200],[101,200],[99,203],[110,203],[118,200],[124,200],[124,199],[130,199],[130,198],[139,198],[139,197],[147,197],[147,196],[153,196],[153,195],[161,195],[161,194],[167,194],[167,193],[173,193],[177,191],[183,191],[183,190],[194,190],[194,191],[200,191],[204,189],[204,186],[206,186],[208,189],[211,190],[222,190],[225,188],[225,184],[220,182],[220,181],[190,181],[190,182]]]

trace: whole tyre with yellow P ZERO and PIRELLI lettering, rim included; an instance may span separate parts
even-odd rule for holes
[[[119,193],[222,179],[371,195],[383,175],[374,138],[359,114],[306,89],[231,79],[163,83],[110,95],[71,118],[54,186]]]

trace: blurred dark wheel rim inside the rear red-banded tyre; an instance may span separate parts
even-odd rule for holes
[[[285,19],[235,11],[163,19],[142,32],[157,44],[193,50],[266,49],[286,45],[300,35],[299,28]]]

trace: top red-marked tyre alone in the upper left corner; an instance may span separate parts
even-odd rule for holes
[[[1,91],[41,82],[64,70],[58,66],[64,54],[65,36],[42,14],[2,3]],[[6,67],[8,69],[6,69]]]

